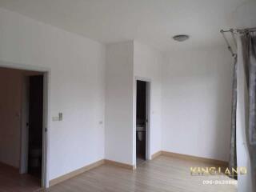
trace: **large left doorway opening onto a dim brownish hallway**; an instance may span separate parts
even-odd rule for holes
[[[46,186],[48,73],[0,67],[0,74],[0,177],[9,183],[0,190],[32,192]]]

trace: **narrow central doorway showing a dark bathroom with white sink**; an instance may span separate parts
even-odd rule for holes
[[[149,125],[149,86],[150,82],[137,80],[136,91],[136,164],[147,159],[147,135]]]

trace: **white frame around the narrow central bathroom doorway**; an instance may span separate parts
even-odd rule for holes
[[[136,76],[134,79],[134,164],[137,166],[136,154],[136,120],[137,120],[137,81],[146,82],[146,160],[150,160],[150,98],[151,98],[151,79]]]

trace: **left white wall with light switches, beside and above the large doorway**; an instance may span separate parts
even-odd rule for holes
[[[104,158],[105,46],[3,9],[0,42],[1,63],[50,69],[49,178]]]

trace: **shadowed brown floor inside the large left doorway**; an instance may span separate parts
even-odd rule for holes
[[[40,190],[40,180],[18,169],[0,163],[0,192],[34,192]]]

